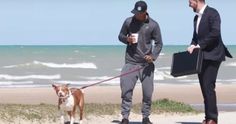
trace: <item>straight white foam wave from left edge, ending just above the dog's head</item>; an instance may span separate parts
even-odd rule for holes
[[[47,79],[47,80],[55,80],[60,79],[61,75],[26,75],[26,76],[12,76],[8,74],[0,74],[0,79],[5,80],[26,80],[26,79]]]

